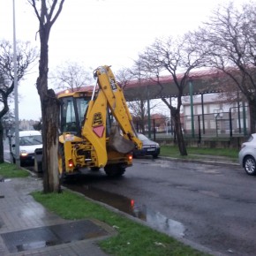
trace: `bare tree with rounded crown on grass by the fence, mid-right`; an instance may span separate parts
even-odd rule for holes
[[[147,47],[143,54],[139,55],[141,68],[147,73],[149,79],[153,79],[159,85],[160,90],[158,94],[162,102],[170,109],[181,155],[187,155],[180,121],[182,96],[184,94],[184,87],[187,86],[189,73],[192,69],[200,67],[200,56],[188,43],[189,41],[186,37],[177,40],[169,37],[164,41],[156,39],[151,46]],[[162,72],[169,72],[174,81],[174,86],[177,87],[177,106],[172,106],[165,98],[165,95],[162,94]],[[183,75],[178,76],[177,74],[180,73]]]

